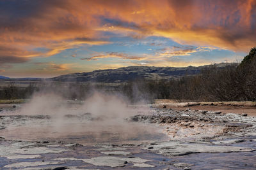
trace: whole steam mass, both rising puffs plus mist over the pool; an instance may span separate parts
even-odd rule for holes
[[[131,106],[117,94],[93,92],[85,101],[67,101],[53,93],[40,93],[24,104],[21,113],[51,117],[23,132],[27,137],[40,134],[40,138],[99,143],[144,139],[154,133],[149,125],[127,121],[133,115],[148,113],[148,107]]]

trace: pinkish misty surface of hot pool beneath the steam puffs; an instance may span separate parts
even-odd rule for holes
[[[6,139],[22,140],[60,140],[80,143],[140,143],[147,140],[167,139],[161,129],[151,124],[122,122],[118,125],[100,124],[62,124],[56,127],[50,124],[10,126],[1,131]]]

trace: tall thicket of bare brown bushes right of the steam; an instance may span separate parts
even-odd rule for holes
[[[120,90],[131,101],[174,99],[177,101],[256,101],[256,48],[240,64],[212,65],[195,76],[172,80],[137,80]]]

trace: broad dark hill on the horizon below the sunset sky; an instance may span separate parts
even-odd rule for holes
[[[234,65],[234,63],[214,64],[216,67],[225,67]],[[237,64],[236,64],[237,65]],[[202,69],[207,66],[188,66],[188,67],[150,67],[150,66],[130,66],[120,67],[118,69],[95,70],[88,73],[72,73],[49,78],[51,81],[68,82],[102,82],[102,83],[120,83],[131,81],[137,78],[149,80],[178,78],[184,75],[200,74]]]

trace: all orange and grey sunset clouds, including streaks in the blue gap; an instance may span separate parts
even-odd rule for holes
[[[243,52],[255,46],[256,39],[254,0],[0,1],[0,16],[1,65],[51,57],[80,46],[106,45],[113,36],[160,36],[182,45]],[[120,53],[89,60],[106,57],[140,60]]]

